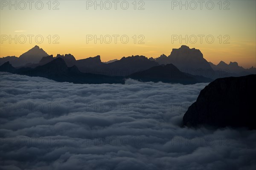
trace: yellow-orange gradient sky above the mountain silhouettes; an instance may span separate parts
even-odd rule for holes
[[[25,0],[25,2],[27,2]],[[76,59],[94,57],[101,55],[102,61],[111,59],[120,59],[123,56],[144,55],[146,57],[159,57],[161,54],[167,56],[171,53],[172,48],[179,48],[181,45],[188,45],[190,48],[200,49],[204,54],[204,58],[215,64],[221,60],[229,63],[230,61],[239,62],[244,68],[256,66],[256,1],[255,0],[230,0],[211,1],[214,3],[212,10],[211,2],[203,1],[202,9],[198,0],[195,3],[187,1],[186,6],[172,0],[144,0],[136,1],[136,10],[134,10],[134,0],[127,0],[129,7],[125,8],[125,2],[119,1],[117,9],[111,0],[112,8],[107,10],[104,8],[105,1],[102,1],[102,10],[97,6],[96,10],[93,6],[87,6],[87,3],[95,1],[85,0],[59,0],[51,1],[51,9],[47,4],[49,0],[42,0],[44,7],[41,10],[40,2],[34,1],[29,9],[29,3],[26,3],[25,9],[23,3],[17,1],[17,9],[11,6],[9,9],[9,0],[1,0],[0,11],[0,57],[20,56],[30,48],[38,45],[48,54],[73,54]],[[7,6],[6,6],[6,3]],[[12,1],[15,4],[15,1]],[[97,1],[100,3],[100,1]],[[186,3],[186,1],[182,1]],[[208,3],[208,6],[206,5]],[[144,5],[143,5],[144,4]],[[19,6],[20,5],[20,6]],[[58,5],[58,10],[52,8]],[[144,10],[138,10],[143,5]],[[227,6],[228,5],[228,6]],[[224,7],[230,8],[224,10]],[[87,9],[88,7],[88,9]],[[108,8],[109,4],[105,3]],[[26,37],[25,43],[12,40],[3,40],[5,37],[11,36],[23,41],[23,35]],[[27,35],[34,35],[32,42],[29,43]],[[35,36],[41,35],[44,41],[39,44],[35,41]],[[51,42],[49,43],[50,35]],[[54,35],[58,35],[58,44],[53,44]],[[111,35],[112,41],[107,44],[103,41],[101,44],[98,40],[89,41],[87,43],[87,35],[96,35],[103,37]],[[112,35],[119,35],[117,43],[115,43]],[[122,35],[129,37],[128,43],[124,44],[120,41]],[[134,44],[134,35],[137,42]],[[139,35],[143,35],[144,44],[139,44],[141,39]],[[186,35],[195,35],[197,41],[188,43],[183,40],[172,42],[173,35],[185,37]],[[204,35],[202,42],[198,35]],[[206,37],[212,35],[213,43],[207,43]],[[219,42],[221,35],[221,43]],[[224,37],[225,35],[228,35]],[[230,39],[224,44],[224,40]],[[191,41],[195,39],[191,37]],[[38,39],[40,41],[40,38]],[[123,39],[125,40],[125,38]],[[208,39],[209,41],[211,38]],[[108,38],[106,39],[108,41]]]

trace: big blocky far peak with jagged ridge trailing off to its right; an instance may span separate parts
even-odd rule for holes
[[[237,62],[230,62],[230,64],[227,65],[225,62],[221,61],[218,65],[214,65],[212,62],[208,62],[204,59],[200,50],[195,48],[190,49],[186,45],[182,45],[178,49],[172,49],[168,57],[162,54],[160,57],[157,57],[155,61],[165,65],[172,63],[182,72],[211,79],[256,74],[256,68],[244,69],[239,66]]]

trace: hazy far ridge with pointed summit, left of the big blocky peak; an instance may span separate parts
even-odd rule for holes
[[[48,55],[37,45],[20,57],[8,56],[0,58],[0,65],[9,61],[15,68],[35,68],[51,62],[56,58],[64,59],[68,67],[76,65],[79,71],[83,73],[102,74],[107,76],[128,76],[137,71],[146,70],[158,65],[157,62],[151,61],[145,56],[122,57],[120,60],[115,59],[110,62],[102,62],[99,55],[79,60],[76,60],[72,54],[57,54],[56,57],[53,57],[53,55]]]

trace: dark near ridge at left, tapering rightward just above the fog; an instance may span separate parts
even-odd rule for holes
[[[13,74],[27,75],[31,77],[45,77],[57,82],[73,82],[80,84],[102,84],[102,83],[125,83],[123,77],[110,77],[100,74],[82,73],[73,65],[68,67],[64,59],[55,58],[45,65],[39,65],[35,68],[14,68],[9,62],[0,66],[0,71]]]

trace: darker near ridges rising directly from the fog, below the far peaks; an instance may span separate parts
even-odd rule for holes
[[[73,83],[125,83],[125,79],[136,79],[142,82],[170,82],[181,84],[195,84],[199,82],[211,82],[212,79],[193,76],[179,71],[174,65],[160,65],[149,68],[145,71],[139,71],[128,76],[106,76],[102,74],[82,73],[76,65],[68,67],[61,57],[53,58],[52,61],[44,65],[38,65],[35,68],[22,67],[14,68],[10,62],[5,62],[0,66],[0,71],[21,74],[32,77],[45,77],[58,82]],[[45,59],[45,58],[44,58]]]

